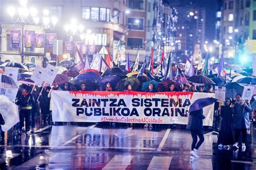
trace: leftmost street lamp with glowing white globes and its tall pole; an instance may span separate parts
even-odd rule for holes
[[[22,45],[21,45],[21,56],[22,56],[22,63],[24,63],[24,24],[25,23],[38,23],[39,22],[39,19],[37,16],[37,10],[35,8],[33,8],[33,6],[28,9],[26,7],[26,3],[27,1],[26,0],[20,0],[19,1],[19,6],[17,9],[14,8],[14,6],[10,6],[8,8],[8,13],[11,17],[11,21],[12,23],[21,23],[22,25]],[[17,11],[17,15],[18,17],[16,19],[14,19],[14,16],[15,16],[15,13]],[[31,15],[32,17],[32,21],[31,19],[29,19],[29,14]]]

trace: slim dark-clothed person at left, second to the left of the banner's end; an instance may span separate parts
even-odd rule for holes
[[[35,126],[36,126],[36,117],[39,114],[39,104],[38,104],[38,97],[39,97],[39,91],[37,87],[35,86],[33,91],[32,91],[32,96],[35,99],[35,102],[32,105],[32,110],[31,110],[31,133],[35,132]]]

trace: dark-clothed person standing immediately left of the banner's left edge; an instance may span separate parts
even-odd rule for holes
[[[42,90],[42,87],[39,91]],[[41,107],[41,113],[43,115],[43,121],[46,121],[46,118],[50,114],[50,98],[48,97],[48,94],[51,90],[51,87],[44,87],[43,91],[39,97],[40,107]]]

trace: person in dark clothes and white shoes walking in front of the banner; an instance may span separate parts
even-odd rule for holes
[[[190,154],[195,158],[199,158],[197,150],[204,142],[204,134],[202,131],[203,119],[205,119],[203,108],[190,112],[188,115],[187,129],[190,130],[193,139]],[[199,141],[197,141],[197,137],[199,137]]]

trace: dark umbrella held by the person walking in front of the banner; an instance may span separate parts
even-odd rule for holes
[[[215,98],[212,98],[212,97],[197,99],[196,101],[194,101],[194,103],[192,103],[190,105],[190,110],[188,112],[191,113],[191,112],[194,112],[194,111],[198,111],[201,108],[212,105],[216,101],[218,101],[218,100],[215,99]]]

